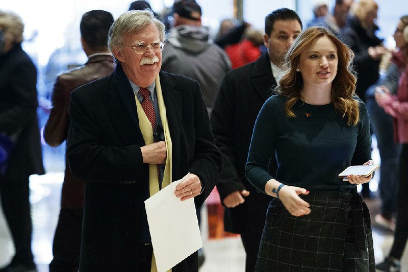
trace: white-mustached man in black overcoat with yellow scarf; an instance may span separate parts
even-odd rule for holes
[[[86,181],[81,271],[154,269],[144,201],[185,177],[174,193],[199,206],[218,180],[199,85],[160,71],[164,37],[151,11],[123,13],[109,31],[115,71],[71,94],[67,157]],[[172,271],[198,271],[197,262],[195,252]]]

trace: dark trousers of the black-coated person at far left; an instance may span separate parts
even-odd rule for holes
[[[0,195],[15,246],[13,263],[34,267],[29,176],[0,176]]]

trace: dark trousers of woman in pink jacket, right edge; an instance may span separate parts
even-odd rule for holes
[[[402,144],[399,161],[399,187],[397,199],[397,226],[394,233],[394,243],[392,245],[390,256],[401,259],[405,244],[408,239],[408,143]]]

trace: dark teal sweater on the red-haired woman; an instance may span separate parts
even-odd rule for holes
[[[298,101],[293,106],[296,117],[289,118],[285,102],[286,97],[273,95],[263,105],[253,129],[246,178],[261,191],[272,178],[308,190],[354,188],[338,175],[350,165],[371,159],[366,105],[359,100],[360,121],[347,126],[333,104],[313,106]],[[276,177],[271,177],[267,167],[275,155],[278,168]]]

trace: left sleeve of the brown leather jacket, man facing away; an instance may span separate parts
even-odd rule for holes
[[[60,145],[66,140],[69,128],[69,91],[61,77],[58,77],[53,90],[53,108],[44,129],[44,139],[51,146]]]

